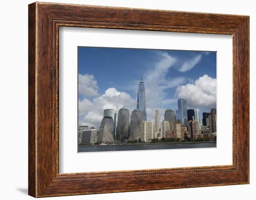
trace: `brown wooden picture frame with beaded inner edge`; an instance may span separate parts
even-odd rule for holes
[[[249,16],[36,2],[28,6],[28,25],[29,195],[48,197],[249,183]],[[60,26],[232,35],[233,164],[59,174]]]

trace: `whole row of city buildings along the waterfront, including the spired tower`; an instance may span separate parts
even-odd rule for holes
[[[97,132],[93,127],[79,126],[78,144],[122,144],[147,142],[205,141],[216,138],[216,109],[202,113],[199,109],[187,110],[187,100],[177,100],[177,110],[166,109],[160,122],[160,110],[155,119],[147,120],[145,83],[138,84],[137,106],[129,113],[124,106],[118,110],[105,109]],[[175,114],[176,113],[176,114]],[[202,123],[202,126],[201,126]]]

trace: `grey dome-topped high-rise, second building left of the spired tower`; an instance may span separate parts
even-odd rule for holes
[[[130,113],[126,107],[122,107],[117,116],[115,140],[126,140],[129,138]]]

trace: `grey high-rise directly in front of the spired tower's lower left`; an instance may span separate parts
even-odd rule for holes
[[[141,138],[141,121],[143,121],[142,112],[139,109],[135,109],[131,114],[130,122],[130,139],[139,140]]]

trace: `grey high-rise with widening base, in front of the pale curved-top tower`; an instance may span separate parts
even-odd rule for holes
[[[105,116],[101,120],[98,142],[113,143],[114,142],[113,127],[114,127],[113,118],[111,116]]]

